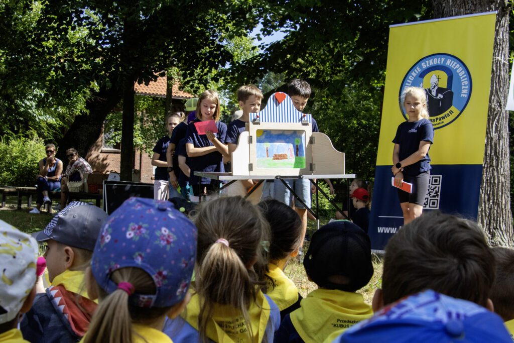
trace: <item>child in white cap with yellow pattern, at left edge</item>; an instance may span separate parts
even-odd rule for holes
[[[17,327],[34,300],[36,256],[34,239],[0,220],[0,342],[29,342]]]

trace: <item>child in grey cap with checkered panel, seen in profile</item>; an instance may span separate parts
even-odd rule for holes
[[[96,206],[71,202],[43,231],[34,234],[37,241],[47,242],[51,286],[36,296],[22,319],[21,330],[32,343],[77,342],[87,331],[97,303],[87,295],[84,270],[106,218]]]

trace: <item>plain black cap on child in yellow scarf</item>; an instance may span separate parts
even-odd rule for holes
[[[370,238],[349,221],[324,225],[311,237],[303,266],[319,287],[346,292],[360,290],[374,272]]]

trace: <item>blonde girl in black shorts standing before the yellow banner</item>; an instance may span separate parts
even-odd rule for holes
[[[401,94],[401,101],[409,119],[398,125],[396,130],[391,171],[397,187],[401,187],[403,181],[412,183],[412,193],[398,189],[405,225],[423,212],[432,169],[428,151],[434,142],[434,128],[428,120],[427,97],[423,88],[406,88]]]

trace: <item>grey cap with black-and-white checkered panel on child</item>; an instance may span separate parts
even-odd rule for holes
[[[73,201],[48,223],[43,231],[32,236],[38,242],[54,240],[76,248],[93,251],[107,213],[80,201]]]

